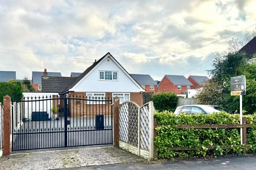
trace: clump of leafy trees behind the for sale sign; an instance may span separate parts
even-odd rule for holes
[[[256,63],[248,62],[244,53],[217,55],[209,74],[213,77],[197,95],[199,104],[220,105],[230,111],[239,108],[239,96],[230,96],[230,78],[246,76],[246,95],[243,96],[243,110],[256,112]]]

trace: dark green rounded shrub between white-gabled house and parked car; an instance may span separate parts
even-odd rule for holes
[[[159,112],[174,111],[178,97],[173,92],[162,92],[161,94],[154,94],[151,100],[154,102],[155,109]]]

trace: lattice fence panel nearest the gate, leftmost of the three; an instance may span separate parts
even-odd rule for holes
[[[128,142],[128,112],[129,103],[122,104],[119,108],[119,137],[124,142]]]

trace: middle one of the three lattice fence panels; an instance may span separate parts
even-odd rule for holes
[[[129,103],[128,142],[134,146],[138,146],[138,109],[138,106]]]

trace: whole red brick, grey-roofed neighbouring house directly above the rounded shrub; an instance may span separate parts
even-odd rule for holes
[[[193,87],[193,84],[183,75],[164,75],[157,89],[158,92],[170,91],[177,94],[177,96],[186,97],[186,92],[191,87]]]

